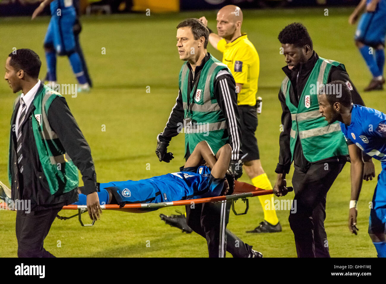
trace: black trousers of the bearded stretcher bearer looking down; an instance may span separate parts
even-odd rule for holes
[[[288,221],[295,235],[298,257],[330,257],[324,228],[326,197],[344,164],[312,164],[307,172],[295,167],[292,177],[294,210],[290,211]]]

